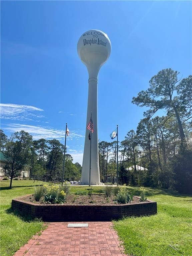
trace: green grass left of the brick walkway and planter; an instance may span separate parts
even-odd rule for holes
[[[30,180],[17,181],[13,180],[13,188],[9,189],[10,181],[3,180],[1,186],[1,206],[0,206],[0,225],[1,225],[1,256],[13,255],[21,246],[36,233],[41,232],[43,222],[40,220],[26,221],[13,213],[9,213],[11,201],[19,196],[32,194],[33,186],[45,182],[33,183]]]

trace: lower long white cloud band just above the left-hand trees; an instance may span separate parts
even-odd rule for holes
[[[33,139],[63,139],[65,138],[65,130],[57,130],[52,127],[42,127],[42,126],[34,126],[34,125],[25,125],[25,124],[4,124],[2,127],[3,130],[9,132],[18,132],[24,130],[33,136]],[[70,139],[78,139],[84,137],[83,135],[74,133],[70,131],[69,137]]]

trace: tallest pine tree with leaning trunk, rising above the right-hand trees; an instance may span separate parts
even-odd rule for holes
[[[146,91],[139,92],[137,97],[133,97],[132,103],[138,106],[146,106],[150,109],[146,115],[152,116],[159,109],[165,109],[167,112],[173,112],[177,118],[177,124],[181,141],[185,142],[185,134],[181,117],[184,116],[184,109],[181,106],[179,97],[176,94],[179,72],[172,69],[163,69],[153,76],[149,81],[150,87]]]

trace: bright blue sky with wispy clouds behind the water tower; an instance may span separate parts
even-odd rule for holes
[[[192,70],[191,1],[1,1],[1,129],[56,138],[82,163],[88,73],[79,37],[105,32],[112,45],[98,81],[98,136],[136,130],[144,108],[131,103],[158,71]],[[162,113],[159,113],[162,114]]]

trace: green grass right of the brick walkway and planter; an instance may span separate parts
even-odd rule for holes
[[[129,188],[134,195],[138,188]],[[134,256],[192,255],[192,197],[146,188],[158,214],[113,221],[125,253]]]

